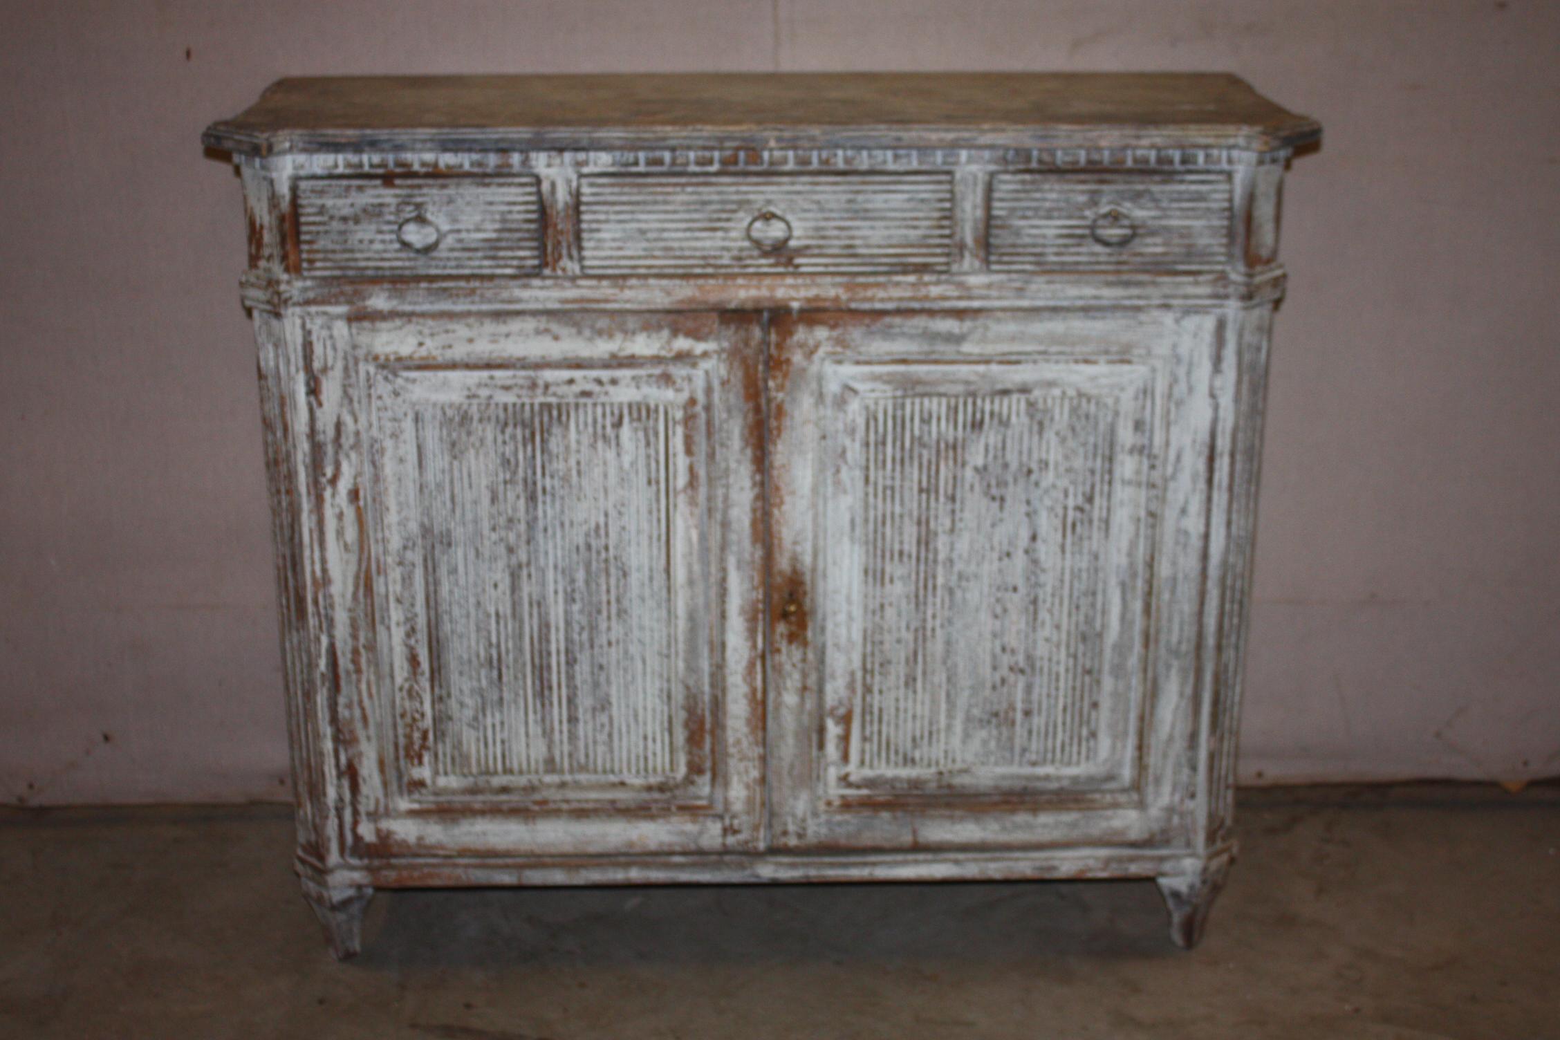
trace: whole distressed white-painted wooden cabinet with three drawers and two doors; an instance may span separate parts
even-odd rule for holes
[[[1231,781],[1279,181],[1221,75],[284,80],[298,872],[1156,878]]]

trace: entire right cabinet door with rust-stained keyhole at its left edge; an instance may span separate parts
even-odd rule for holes
[[[1184,844],[1223,329],[774,320],[771,844]]]

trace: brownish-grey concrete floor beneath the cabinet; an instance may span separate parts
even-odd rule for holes
[[[1560,787],[1242,798],[1148,883],[392,892],[329,960],[279,808],[0,814],[0,1037],[1560,1038]]]

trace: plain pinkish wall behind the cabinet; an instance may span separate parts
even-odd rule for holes
[[[1245,781],[1560,772],[1551,0],[0,0],[0,798],[285,795],[232,173],[303,73],[1236,72],[1287,184]]]

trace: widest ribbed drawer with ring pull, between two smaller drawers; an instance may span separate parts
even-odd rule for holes
[[[941,271],[945,173],[594,175],[580,181],[587,274]]]

